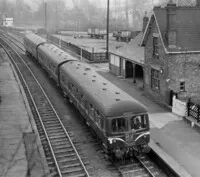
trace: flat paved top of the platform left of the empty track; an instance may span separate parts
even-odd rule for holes
[[[0,48],[0,176],[25,177],[23,133],[31,132],[26,107],[8,60]]]

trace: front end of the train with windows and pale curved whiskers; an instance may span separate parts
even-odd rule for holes
[[[147,153],[150,141],[148,114],[114,117],[109,120],[108,149],[110,153],[120,149],[123,152]]]

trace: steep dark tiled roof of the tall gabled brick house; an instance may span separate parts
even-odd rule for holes
[[[176,7],[176,42],[177,47],[169,49],[166,40],[167,11],[166,8],[154,8],[153,15],[157,21],[164,46],[169,52],[200,51],[200,8]],[[145,35],[148,35],[146,33]]]

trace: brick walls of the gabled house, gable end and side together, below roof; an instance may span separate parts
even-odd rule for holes
[[[169,104],[170,90],[186,97],[200,95],[200,53],[166,54],[161,38],[158,39],[159,59],[153,57],[153,33],[158,34],[155,22],[149,32],[145,46],[145,91],[155,100]],[[159,74],[160,89],[151,88],[151,68],[162,70]],[[180,92],[180,82],[185,82],[185,92]]]

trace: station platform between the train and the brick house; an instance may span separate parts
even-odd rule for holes
[[[181,117],[148,98],[144,91],[130,80],[118,78],[96,67],[97,72],[129,95],[143,103],[149,111],[151,148],[164,159],[180,177],[200,175],[200,133]]]

